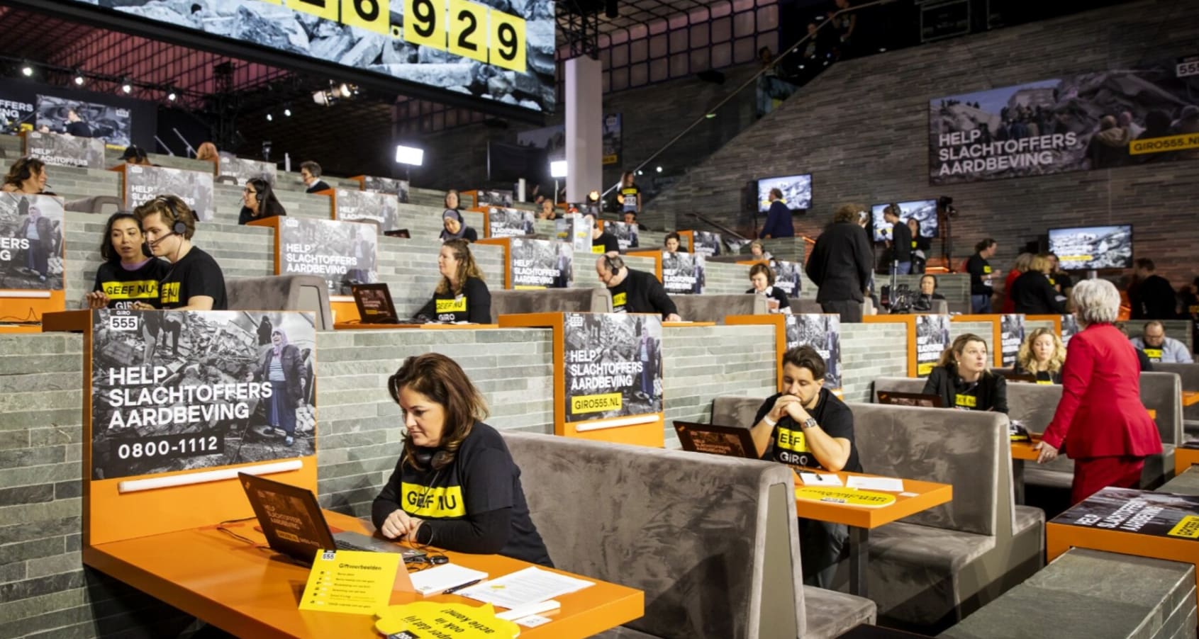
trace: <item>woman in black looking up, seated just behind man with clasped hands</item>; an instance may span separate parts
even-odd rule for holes
[[[1007,380],[990,372],[987,343],[974,333],[958,336],[924,382],[947,408],[1007,414]]]

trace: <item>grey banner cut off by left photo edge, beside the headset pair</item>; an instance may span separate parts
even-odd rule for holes
[[[62,290],[62,207],[54,195],[0,197],[0,290]]]

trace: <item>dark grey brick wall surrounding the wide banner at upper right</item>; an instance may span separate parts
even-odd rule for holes
[[[1153,258],[1158,272],[1181,285],[1195,275],[1199,162],[932,187],[928,101],[1192,55],[1197,41],[1199,13],[1158,0],[839,62],[694,167],[657,210],[694,210],[745,228],[752,223],[741,212],[747,180],[812,171],[813,209],[795,218],[801,234],[817,235],[843,201],[950,195],[960,211],[956,260],[992,236],[999,240],[992,263],[1006,271],[1019,248],[1050,227],[1132,222],[1135,255]]]

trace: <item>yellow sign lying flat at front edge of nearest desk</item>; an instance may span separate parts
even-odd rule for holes
[[[512,639],[520,628],[496,619],[495,608],[464,603],[416,602],[390,605],[378,613],[375,629],[384,637],[453,637],[454,639]]]

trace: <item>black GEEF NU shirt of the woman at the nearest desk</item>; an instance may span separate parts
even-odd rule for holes
[[[487,545],[480,538],[498,543],[499,554],[552,566],[546,543],[529,517],[524,489],[520,487],[520,469],[512,460],[504,438],[490,426],[475,422],[470,434],[462,441],[450,465],[433,470],[417,469],[405,464],[403,458],[387,486],[372,505],[372,519],[381,526],[396,510],[424,522],[417,537],[446,550],[464,553],[481,551]],[[489,513],[507,517],[495,519]],[[505,530],[470,530],[471,520],[494,525],[506,519]],[[428,531],[428,532],[426,532]]]

